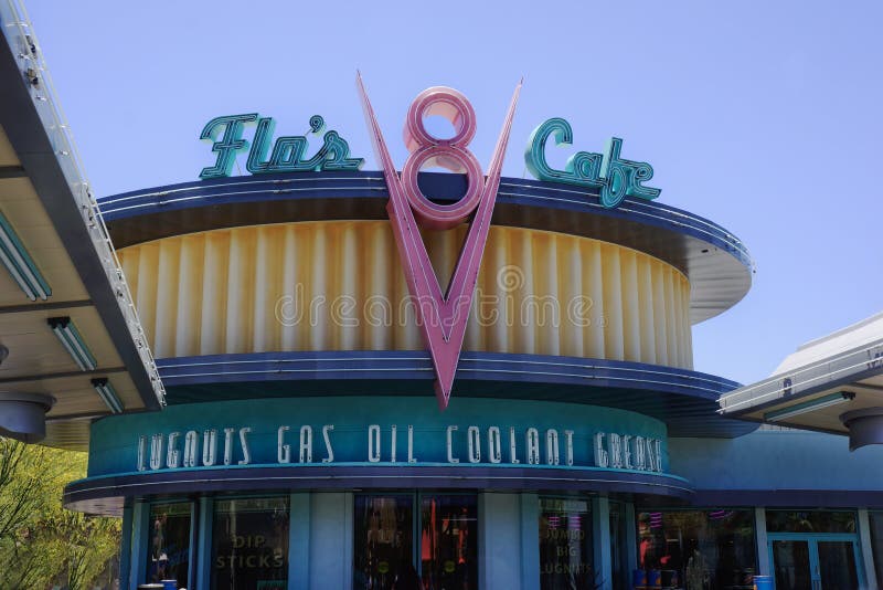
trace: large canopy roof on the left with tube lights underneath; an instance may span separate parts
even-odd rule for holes
[[[23,7],[0,29],[0,433],[36,403],[47,444],[84,450],[91,419],[164,392]]]

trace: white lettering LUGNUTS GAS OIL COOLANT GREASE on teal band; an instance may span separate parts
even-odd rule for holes
[[[339,434],[340,430],[348,434]],[[118,441],[115,445],[121,446]],[[124,450],[130,449],[125,446]],[[398,424],[377,423],[366,428],[348,424],[338,433],[334,424],[320,426],[308,423],[281,424],[275,431],[269,426],[187,428],[185,432],[141,434],[136,449],[136,468],[139,472],[274,463],[328,466],[334,463],[470,463],[664,471],[661,439],[631,432],[587,432],[585,429],[538,428],[532,424],[519,428],[418,425],[416,429],[414,424],[401,424],[401,432]]]

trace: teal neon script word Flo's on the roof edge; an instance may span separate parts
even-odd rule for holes
[[[225,115],[210,120],[200,134],[200,139],[212,141],[212,151],[217,152],[214,166],[202,169],[201,179],[230,176],[236,155],[248,148],[248,141],[242,138],[245,125],[255,122],[257,129],[246,164],[246,169],[253,175],[359,170],[365,161],[350,158],[349,144],[334,130],[325,134],[322,146],[309,158],[305,156],[309,147],[306,135],[278,137],[267,157],[276,122],[270,117],[258,117],[257,113]],[[325,119],[313,115],[309,125],[309,133],[319,135],[325,129]]]

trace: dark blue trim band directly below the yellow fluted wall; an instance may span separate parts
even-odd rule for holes
[[[157,361],[169,403],[262,397],[432,394],[426,351],[260,352]],[[567,386],[567,387],[561,387]],[[619,408],[667,423],[671,436],[741,436],[757,424],[719,415],[717,399],[738,383],[641,362],[466,351],[454,394]]]

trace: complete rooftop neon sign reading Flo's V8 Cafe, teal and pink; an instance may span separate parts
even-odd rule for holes
[[[468,147],[476,134],[476,114],[462,94],[435,86],[417,95],[405,119],[404,141],[409,155],[400,176],[361,75],[358,76],[358,86],[390,193],[386,210],[398,255],[408,291],[417,301],[417,320],[433,360],[436,398],[444,410],[457,371],[521,84],[512,95],[487,175]],[[442,139],[432,135],[424,125],[424,118],[432,115],[448,119],[456,129],[454,137]],[[212,151],[217,157],[214,166],[202,170],[200,178],[230,176],[237,155],[248,149],[243,131],[246,125],[252,124],[256,124],[256,129],[246,169],[253,175],[358,170],[364,164],[362,158],[350,157],[349,144],[334,130],[325,133],[322,146],[312,156],[307,156],[307,136],[320,135],[325,129],[325,120],[319,115],[310,117],[307,134],[278,137],[273,143],[273,118],[248,113],[216,117],[205,125],[200,138],[212,141]],[[647,200],[659,197],[660,189],[643,186],[652,179],[653,168],[647,162],[623,159],[623,140],[618,137],[608,140],[603,154],[577,151],[570,157],[564,170],[552,168],[546,160],[545,148],[550,137],[554,138],[555,145],[571,145],[573,129],[570,123],[560,117],[551,118],[531,134],[524,159],[528,170],[536,179],[593,189],[597,191],[602,206],[608,209],[619,207],[626,197]],[[423,193],[417,180],[421,169],[426,166],[465,175],[466,193],[450,204],[432,201]],[[449,230],[469,220],[466,241],[447,292],[443,293],[419,230]]]

